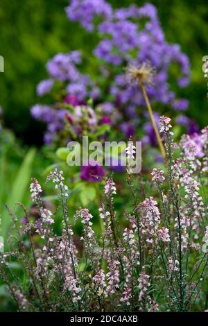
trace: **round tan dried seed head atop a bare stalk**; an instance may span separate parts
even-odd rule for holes
[[[130,85],[153,84],[155,73],[155,67],[152,67],[147,62],[143,62],[141,65],[131,63],[125,69],[126,80]]]

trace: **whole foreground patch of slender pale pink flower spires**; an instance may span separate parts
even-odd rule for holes
[[[149,189],[136,189],[134,180],[128,178],[133,207],[130,213],[123,214],[126,219],[121,216],[121,223],[114,209],[116,185],[108,178],[103,191],[105,199],[97,214],[93,216],[89,209],[80,208],[73,216],[73,223],[79,219],[81,225],[75,235],[75,225],[68,216],[68,189],[62,171],[55,169],[46,181],[52,181],[60,193],[64,228],[57,235],[53,230],[55,215],[44,207],[42,189],[37,180],[32,180],[31,198],[40,219],[34,223],[28,215],[19,228],[14,218],[20,246],[16,251],[0,254],[1,279],[19,310],[205,309],[207,289],[203,281],[207,277],[208,226],[206,200],[200,196],[200,179],[204,180],[207,173],[202,170],[205,157],[186,156],[184,137],[182,145],[177,146],[180,153],[174,151],[170,122],[166,117],[161,119],[167,173],[153,170],[153,187],[157,186],[154,197],[149,196]],[[201,137],[202,151],[206,153],[207,128],[202,130]],[[92,223],[98,215],[103,229],[101,236],[96,234]],[[38,241],[36,231],[41,237]],[[10,271],[9,263],[14,259],[24,268],[24,282]]]

